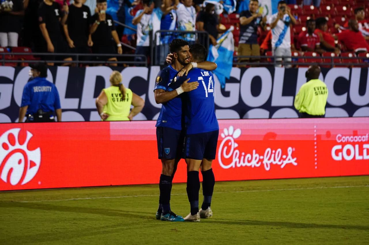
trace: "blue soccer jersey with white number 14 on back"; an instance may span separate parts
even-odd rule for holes
[[[187,134],[200,134],[218,130],[219,125],[214,106],[213,73],[194,68],[189,71],[187,78],[190,78],[189,82],[199,82],[197,89],[186,93],[185,122]]]

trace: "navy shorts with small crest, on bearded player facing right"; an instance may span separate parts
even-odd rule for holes
[[[167,127],[156,127],[156,141],[158,143],[159,159],[184,158],[184,133]]]

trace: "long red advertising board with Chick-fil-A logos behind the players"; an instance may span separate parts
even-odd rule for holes
[[[219,120],[215,179],[369,174],[369,118]],[[159,182],[155,122],[0,124],[0,191]],[[179,164],[174,182],[186,181]]]

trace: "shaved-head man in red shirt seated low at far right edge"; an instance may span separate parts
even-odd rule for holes
[[[348,26],[348,30],[337,33],[335,37],[338,41],[343,43],[348,51],[353,51],[356,54],[369,52],[369,44],[359,31],[358,21],[356,19],[350,19]]]

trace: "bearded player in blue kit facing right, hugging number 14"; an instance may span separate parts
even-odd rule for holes
[[[170,45],[173,54],[173,62],[161,70],[155,79],[155,101],[162,103],[162,108],[156,122],[156,138],[158,142],[158,156],[162,161],[162,173],[160,175],[159,209],[156,219],[167,221],[183,221],[170,210],[170,191],[172,189],[173,175],[178,161],[182,158],[183,138],[182,130],[182,96],[183,92],[189,92],[199,86],[197,79],[189,82],[186,79],[177,82],[176,74],[184,65],[191,61],[189,45],[182,39],[174,39]],[[216,64],[205,61],[201,64],[193,63],[202,68],[214,70]]]

